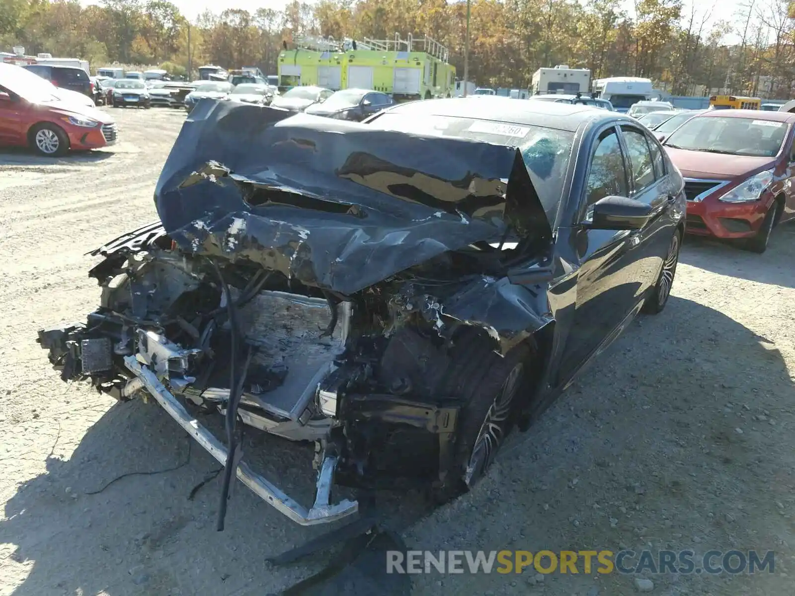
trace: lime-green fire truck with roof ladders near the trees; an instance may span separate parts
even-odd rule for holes
[[[335,41],[296,36],[279,54],[279,89],[318,85],[339,89],[374,89],[397,101],[452,97],[456,68],[448,49],[430,37],[394,40]]]

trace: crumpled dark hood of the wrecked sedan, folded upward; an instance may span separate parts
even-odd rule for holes
[[[155,202],[182,250],[344,294],[508,227],[552,237],[518,149],[236,102],[192,111]]]

